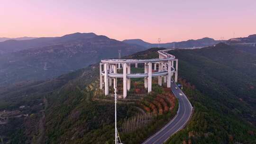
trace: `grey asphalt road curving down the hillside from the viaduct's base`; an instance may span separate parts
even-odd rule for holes
[[[172,82],[171,90],[173,91],[175,97],[179,100],[179,109],[177,115],[167,125],[149,137],[142,144],[164,144],[170,136],[181,130],[189,121],[189,118],[192,115],[192,105],[183,91],[179,88],[175,89],[175,87],[178,88],[178,86]],[[182,94],[182,96],[180,94]]]

